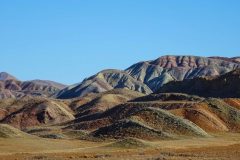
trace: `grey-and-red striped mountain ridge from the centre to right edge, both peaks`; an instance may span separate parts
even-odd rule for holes
[[[61,90],[56,97],[81,97],[91,92],[99,93],[114,88],[127,88],[149,94],[171,81],[218,76],[236,68],[240,68],[237,57],[163,56],[153,61],[136,63],[125,71],[104,70]]]

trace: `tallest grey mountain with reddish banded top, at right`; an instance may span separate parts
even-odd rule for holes
[[[163,56],[153,61],[139,62],[126,71],[147,84],[155,92],[162,85],[203,76],[217,76],[236,68],[240,63],[197,56]]]

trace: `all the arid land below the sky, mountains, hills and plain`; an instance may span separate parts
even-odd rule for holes
[[[163,56],[71,86],[0,74],[0,159],[239,160],[237,58]]]

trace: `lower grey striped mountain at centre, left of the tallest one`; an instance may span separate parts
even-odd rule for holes
[[[88,93],[100,93],[115,88],[129,89],[144,94],[150,94],[152,92],[147,85],[134,79],[125,71],[104,70],[85,79],[78,85],[63,89],[56,97],[60,99],[82,97]]]

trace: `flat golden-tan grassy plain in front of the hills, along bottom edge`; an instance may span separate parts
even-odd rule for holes
[[[113,142],[0,138],[1,160],[148,159],[239,160],[240,134],[216,134],[210,138],[146,142],[144,148],[109,147]]]

